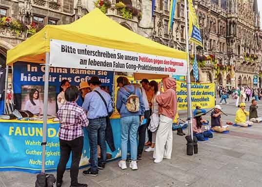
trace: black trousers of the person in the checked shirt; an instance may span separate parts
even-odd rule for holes
[[[59,143],[60,143],[60,160],[57,167],[57,181],[58,182],[62,181],[66,164],[69,160],[70,153],[72,152],[70,177],[71,177],[71,185],[76,186],[78,184],[79,163],[83,150],[83,136],[80,136],[70,141],[59,139]]]

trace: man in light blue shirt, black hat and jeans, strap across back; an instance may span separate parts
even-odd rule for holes
[[[90,162],[91,167],[83,171],[84,175],[97,176],[98,169],[105,167],[106,160],[106,144],[105,144],[105,130],[106,130],[106,116],[113,111],[111,96],[102,91],[100,88],[101,81],[97,76],[92,76],[88,82],[92,92],[87,93],[84,98],[82,108],[87,112],[89,125],[87,127],[89,144],[90,144]],[[98,93],[97,93],[98,92]],[[100,95],[100,94],[101,95]],[[106,102],[103,102],[103,99]],[[98,162],[98,149],[101,148],[101,159]]]

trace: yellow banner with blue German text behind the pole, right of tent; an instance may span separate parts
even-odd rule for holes
[[[187,110],[187,85],[186,82],[177,81],[178,110]],[[196,104],[201,104],[202,109],[215,106],[215,83],[192,83],[191,84],[192,109]]]

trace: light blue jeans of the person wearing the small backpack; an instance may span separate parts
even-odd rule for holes
[[[121,117],[121,158],[126,160],[128,135],[130,141],[131,160],[137,160],[137,132],[140,124],[140,116]],[[142,125],[145,126],[145,125]]]

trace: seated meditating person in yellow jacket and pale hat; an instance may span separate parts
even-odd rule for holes
[[[253,122],[246,121],[246,116],[249,112],[245,111],[245,103],[240,103],[239,110],[236,112],[235,123],[242,127],[248,127],[248,125],[253,125]]]

